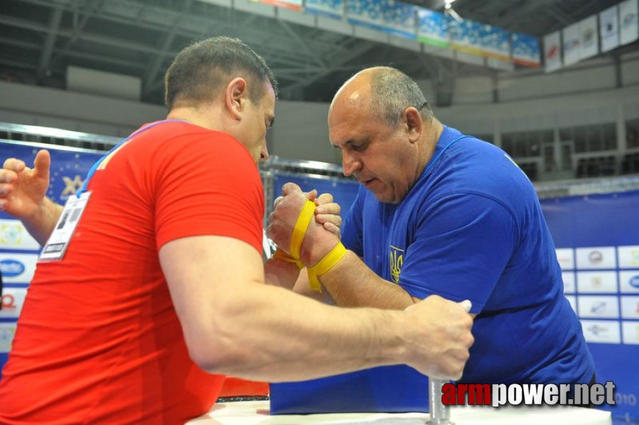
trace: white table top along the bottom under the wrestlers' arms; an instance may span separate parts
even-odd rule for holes
[[[186,425],[424,425],[424,413],[333,413],[269,415],[268,401],[215,404]],[[610,412],[585,407],[451,407],[456,425],[611,425]]]

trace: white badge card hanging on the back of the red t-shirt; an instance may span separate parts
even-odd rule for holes
[[[45,244],[42,253],[40,253],[38,261],[59,261],[64,257],[75,228],[84,212],[84,208],[86,208],[86,203],[89,202],[89,196],[91,196],[91,192],[82,192],[79,198],[77,196],[69,196],[62,214],[60,214],[60,220],[57,220],[55,229],[53,229],[47,244]]]

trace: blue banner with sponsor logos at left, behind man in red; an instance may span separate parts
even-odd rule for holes
[[[33,166],[38,150],[51,153],[51,177],[47,196],[57,203],[65,203],[81,188],[86,173],[104,152],[87,149],[43,145],[28,142],[0,141],[0,160],[23,159]],[[0,376],[11,351],[16,321],[26,296],[28,285],[35,273],[40,245],[30,237],[19,220],[0,212],[0,271],[4,280],[2,308],[0,309]]]

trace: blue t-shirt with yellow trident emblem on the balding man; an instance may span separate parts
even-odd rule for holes
[[[591,380],[594,364],[536,191],[502,149],[444,128],[401,203],[360,188],[342,241],[414,297],[473,302],[463,382]]]

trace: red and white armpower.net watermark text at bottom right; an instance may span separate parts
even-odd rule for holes
[[[444,384],[444,405],[601,406],[615,404],[615,385],[605,384]]]

